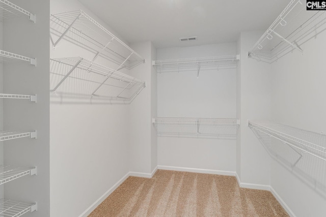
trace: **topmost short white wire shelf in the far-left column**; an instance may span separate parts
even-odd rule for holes
[[[0,18],[2,18],[2,20],[20,16],[27,16],[34,23],[36,22],[35,14],[22,9],[9,1],[0,0]]]

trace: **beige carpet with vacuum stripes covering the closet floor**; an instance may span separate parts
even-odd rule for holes
[[[90,215],[289,216],[268,191],[239,188],[233,176],[157,170],[130,176]]]

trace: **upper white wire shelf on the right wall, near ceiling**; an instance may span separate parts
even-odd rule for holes
[[[303,52],[300,45],[312,38],[310,34],[316,32],[325,18],[323,11],[306,10],[306,1],[291,0],[249,51],[249,57],[273,63],[293,50]]]

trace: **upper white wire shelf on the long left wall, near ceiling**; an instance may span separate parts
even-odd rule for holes
[[[96,53],[92,61],[102,56],[128,69],[145,63],[143,57],[82,10],[52,14],[50,19],[59,37],[57,41],[52,39],[53,49],[65,37],[91,48]]]

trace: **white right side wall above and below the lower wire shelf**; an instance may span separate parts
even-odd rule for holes
[[[298,42],[304,54],[294,50],[271,65],[276,122],[316,133],[326,132],[326,74],[322,66],[325,28],[322,25],[314,29],[304,44]],[[296,216],[325,216],[326,162],[309,154],[303,154],[300,160],[300,155],[287,145],[277,141],[272,144],[275,160],[271,167],[271,186]]]

